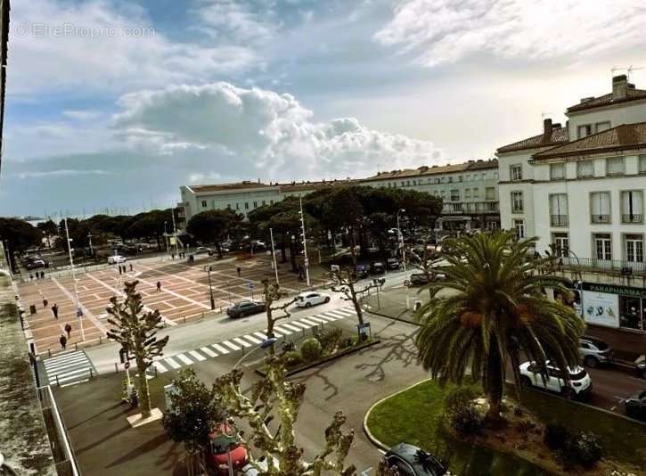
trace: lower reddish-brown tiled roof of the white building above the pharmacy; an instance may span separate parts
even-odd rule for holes
[[[646,122],[621,126],[534,154],[534,160],[646,148]]]

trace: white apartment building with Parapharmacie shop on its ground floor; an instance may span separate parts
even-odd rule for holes
[[[646,90],[617,76],[611,93],[566,116],[566,127],[547,119],[542,134],[498,149],[502,226],[537,236],[540,253],[556,250],[584,281],[608,284],[584,283],[583,308],[609,311],[586,321],[646,330],[646,293],[630,286],[646,276]]]

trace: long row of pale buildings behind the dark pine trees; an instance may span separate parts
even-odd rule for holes
[[[462,164],[392,170],[356,180],[183,185],[180,187],[181,201],[178,204],[184,210],[180,212],[180,220],[185,223],[193,215],[207,209],[233,209],[246,217],[253,209],[274,204],[289,196],[302,196],[324,187],[347,184],[430,193],[443,199],[443,214],[470,217],[474,226],[481,228],[500,226],[497,160],[470,160]]]

